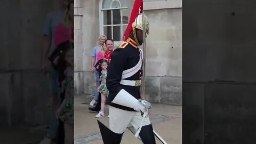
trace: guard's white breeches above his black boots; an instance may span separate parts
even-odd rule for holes
[[[139,111],[127,111],[109,106],[109,129],[115,133],[123,133],[130,124],[137,131],[142,121]],[[146,117],[143,126],[151,124]]]

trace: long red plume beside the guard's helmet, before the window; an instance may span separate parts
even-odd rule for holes
[[[125,30],[124,33],[124,37],[123,37],[123,41],[126,41],[127,38],[129,37],[129,35],[132,32],[132,23],[135,21],[135,19],[137,18],[138,14],[142,13],[143,11],[143,1],[142,0],[135,0],[133,7],[132,7],[132,12],[131,12],[131,16],[130,16],[130,20],[128,23],[128,26]]]

